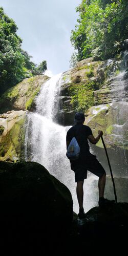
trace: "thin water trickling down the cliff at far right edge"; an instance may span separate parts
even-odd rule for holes
[[[128,91],[128,74],[127,74],[128,51],[124,52],[123,61],[121,63],[120,73],[110,82],[112,108],[116,111],[115,124],[113,124],[112,136],[115,145],[120,145],[120,174],[121,177],[127,178],[127,157],[125,147],[127,146],[127,91]],[[121,150],[122,148],[122,150]]]

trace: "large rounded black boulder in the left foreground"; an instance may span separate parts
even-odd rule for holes
[[[56,247],[73,219],[69,189],[35,162],[0,162],[0,189],[1,250]]]

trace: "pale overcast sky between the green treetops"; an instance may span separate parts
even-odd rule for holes
[[[74,51],[71,30],[77,23],[75,8],[80,3],[81,0],[0,0],[0,6],[18,27],[22,48],[37,64],[47,60],[53,74],[69,69]]]

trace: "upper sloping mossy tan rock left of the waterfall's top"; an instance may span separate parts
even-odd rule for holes
[[[16,86],[7,90],[0,100],[1,113],[11,110],[34,110],[34,99],[42,84],[49,79],[45,75],[26,78]]]

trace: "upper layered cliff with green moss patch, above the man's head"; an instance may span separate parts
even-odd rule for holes
[[[66,119],[66,125],[73,123],[71,115],[78,110],[83,110],[86,113],[91,106],[120,101],[124,96],[124,90],[125,98],[127,97],[127,84],[125,89],[120,88],[122,95],[113,93],[118,89],[121,78],[127,80],[127,68],[124,65],[128,56],[125,54],[123,59],[123,55],[124,53],[106,61],[93,61],[93,58],[84,59],[77,63],[76,68],[63,73],[60,109]],[[119,78],[122,70],[126,71],[125,75]],[[87,113],[87,115],[89,114]],[[70,118],[67,118],[68,116]]]

